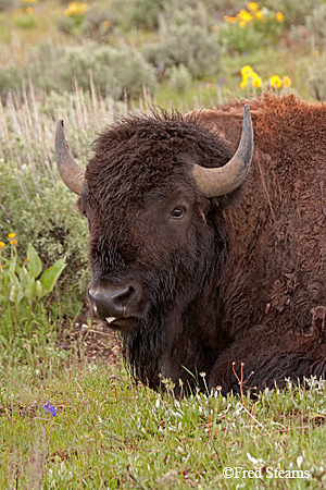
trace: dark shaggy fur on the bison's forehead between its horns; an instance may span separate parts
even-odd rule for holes
[[[178,113],[130,117],[110,127],[95,142],[96,157],[86,171],[88,192],[102,210],[114,208],[120,222],[125,211],[145,206],[148,193],[163,185],[189,184],[189,168],[224,166],[231,149],[198,124]],[[191,186],[193,181],[190,180]]]

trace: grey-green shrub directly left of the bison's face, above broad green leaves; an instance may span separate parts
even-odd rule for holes
[[[68,283],[74,282],[85,294],[88,228],[74,206],[75,196],[61,181],[53,184],[39,175],[35,183],[29,167],[18,170],[13,163],[1,160],[0,180],[0,236],[15,230],[20,236],[20,254],[33,241],[46,267],[65,257]]]

